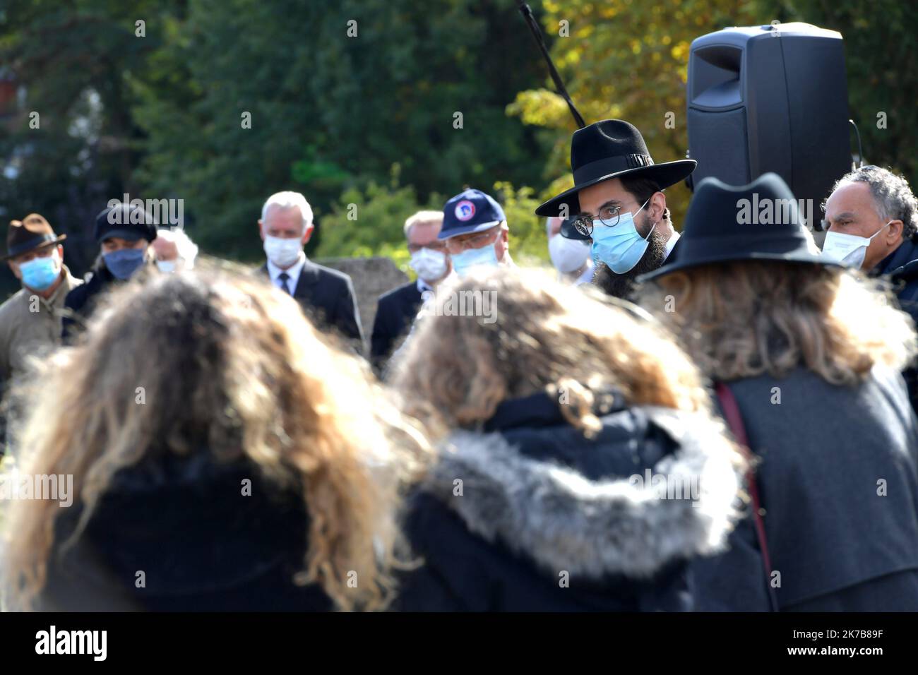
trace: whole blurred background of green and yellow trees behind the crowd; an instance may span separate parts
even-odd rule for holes
[[[774,19],[839,30],[867,159],[918,178],[911,4],[530,5],[588,122],[632,121],[658,162],[688,147],[692,39]],[[29,126],[33,111],[39,129]],[[877,128],[880,111],[887,129]],[[453,128],[456,112],[462,129]],[[124,193],[184,199],[203,251],[254,262],[263,199],[296,189],[317,214],[310,255],[382,254],[404,264],[404,220],[475,186],[504,204],[514,257],[544,260],[544,222],[532,209],[571,185],[574,129],[513,0],[0,5],[0,225],[6,231],[33,210],[47,216],[68,234],[78,274],[95,255],[95,213]],[[673,186],[669,195],[678,226],[689,191]],[[16,287],[8,270],[0,283]]]

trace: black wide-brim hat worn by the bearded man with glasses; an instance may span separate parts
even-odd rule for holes
[[[567,204],[565,216],[576,216],[580,212],[577,198],[580,190],[624,175],[640,174],[655,181],[662,190],[687,178],[697,164],[695,160],[655,164],[644,137],[633,124],[623,119],[603,119],[574,132],[571,140],[574,186],[546,201],[535,213],[560,216],[561,206]]]

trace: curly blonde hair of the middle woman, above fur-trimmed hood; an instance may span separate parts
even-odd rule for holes
[[[501,268],[441,287],[393,366],[412,415],[443,432],[485,422],[498,404],[563,389],[586,432],[597,392],[630,405],[708,410],[700,375],[641,311],[539,271]]]

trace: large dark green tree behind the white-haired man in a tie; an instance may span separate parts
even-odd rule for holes
[[[307,195],[328,250],[322,216],[342,191],[385,184],[393,163],[424,202],[495,177],[532,183],[543,152],[504,108],[543,71],[515,12],[473,0],[194,0],[154,56],[162,79],[136,87],[143,185],[185,197],[209,249],[246,257],[260,254],[254,220],[279,189]]]

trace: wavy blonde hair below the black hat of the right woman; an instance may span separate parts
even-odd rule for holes
[[[882,282],[838,267],[744,261],[659,277],[638,293],[702,371],[732,380],[785,377],[804,366],[853,385],[875,365],[916,354],[911,317]]]

